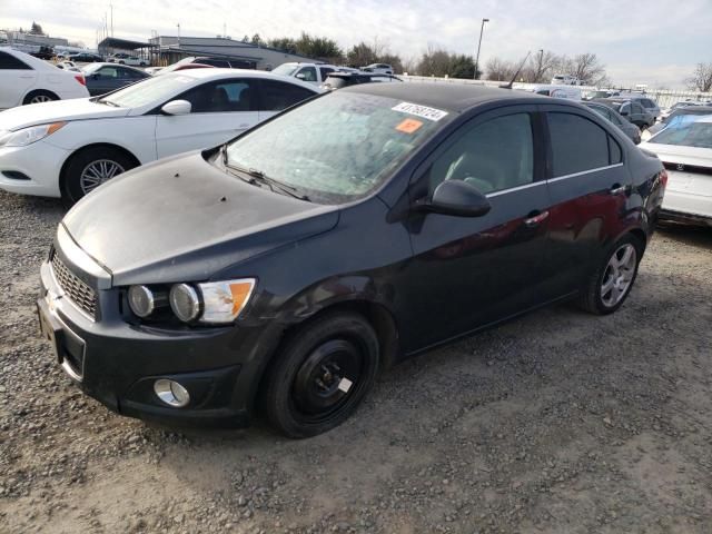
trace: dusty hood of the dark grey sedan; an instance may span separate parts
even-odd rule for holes
[[[207,280],[337,221],[336,206],[249,185],[191,152],[115,178],[62,225],[121,286]]]

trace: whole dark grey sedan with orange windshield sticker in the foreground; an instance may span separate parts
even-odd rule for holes
[[[379,369],[550,303],[629,295],[666,175],[573,102],[364,83],[140,167],[65,217],[42,332],[120,414],[288,436]]]

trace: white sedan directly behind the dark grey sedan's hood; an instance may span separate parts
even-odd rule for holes
[[[318,92],[269,72],[195,69],[2,111],[0,189],[72,204],[126,170],[220,145]]]

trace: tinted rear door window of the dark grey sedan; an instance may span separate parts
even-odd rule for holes
[[[553,154],[553,177],[609,165],[609,135],[578,115],[547,113]]]

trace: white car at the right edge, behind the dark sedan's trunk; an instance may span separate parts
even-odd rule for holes
[[[671,125],[640,147],[668,169],[661,218],[712,227],[712,116]]]

